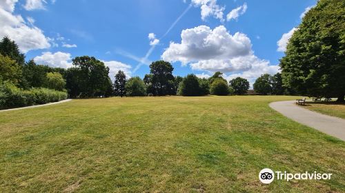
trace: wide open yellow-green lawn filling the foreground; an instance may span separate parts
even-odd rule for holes
[[[0,112],[0,192],[345,192],[345,143],[268,107],[288,99],[85,99]],[[264,167],[333,176],[264,185]]]

